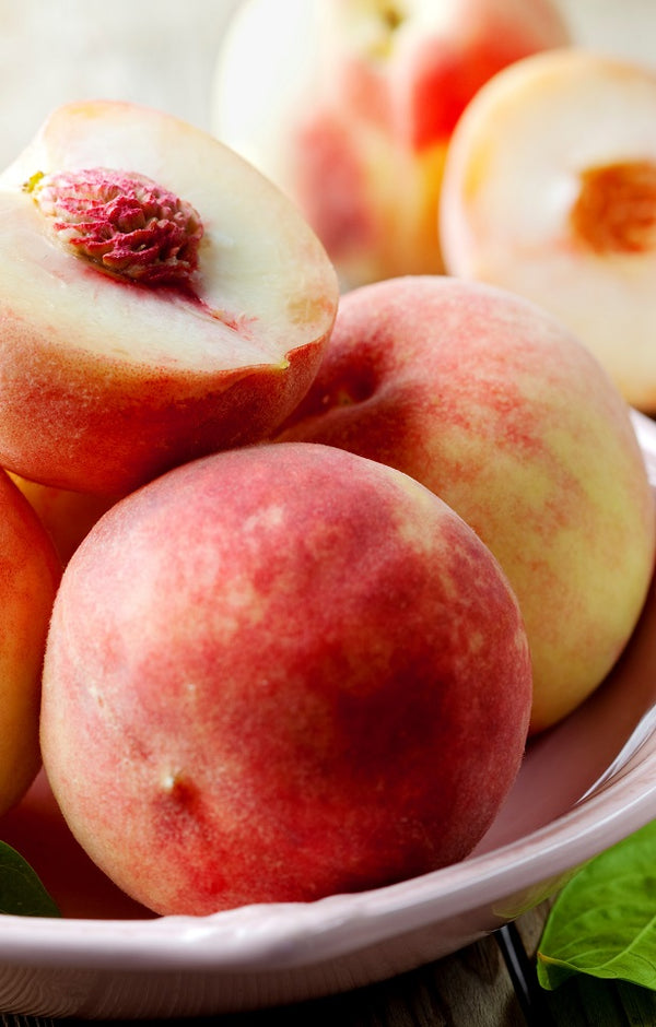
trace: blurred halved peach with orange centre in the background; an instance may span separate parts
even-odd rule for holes
[[[490,81],[452,140],[442,247],[453,274],[567,324],[633,406],[656,413],[656,73],[571,48]]]

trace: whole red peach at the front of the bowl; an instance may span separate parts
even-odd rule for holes
[[[375,461],[260,445],[171,471],[81,543],[42,747],[97,865],[206,914],[461,859],[530,696],[515,595],[453,510]]]

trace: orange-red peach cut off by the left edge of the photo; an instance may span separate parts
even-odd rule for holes
[[[0,815],[23,798],[40,767],[40,674],[60,577],[45,528],[0,471]]]

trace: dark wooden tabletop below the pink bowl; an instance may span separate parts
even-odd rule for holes
[[[429,966],[342,995],[278,1010],[199,1017],[196,1027],[655,1027],[656,993],[587,977],[555,992],[535,978],[548,904]],[[0,1014],[0,1027],[57,1027],[47,1017]],[[62,1027],[81,1027],[77,1019]],[[95,1027],[181,1027],[189,1020],[94,1020]]]

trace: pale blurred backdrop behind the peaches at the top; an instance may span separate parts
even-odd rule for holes
[[[0,166],[69,101],[136,101],[209,129],[216,51],[239,2],[0,0]],[[656,0],[559,7],[577,42],[656,69]]]

